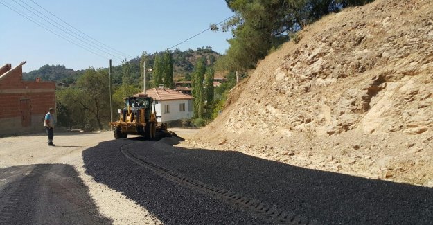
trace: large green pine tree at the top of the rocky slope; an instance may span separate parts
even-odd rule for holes
[[[373,0],[226,0],[236,13],[213,31],[233,33],[224,57],[226,70],[245,72],[256,66],[273,48],[294,37],[307,24],[348,6],[360,6]],[[296,36],[295,36],[296,37]]]

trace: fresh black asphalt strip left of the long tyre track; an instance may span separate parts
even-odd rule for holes
[[[256,218],[247,213],[167,181],[126,159],[119,149],[132,142],[108,141],[86,150],[83,153],[86,172],[95,181],[107,184],[147,208],[164,224],[256,223]]]

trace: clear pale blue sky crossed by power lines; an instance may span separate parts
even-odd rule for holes
[[[137,57],[141,55],[143,51],[148,53],[164,51],[166,48],[170,48],[206,30],[206,28],[209,28],[209,24],[218,23],[233,15],[224,0],[33,1],[86,35],[130,55],[127,57],[128,60],[131,56]],[[48,12],[39,8],[30,0],[0,0],[0,66],[6,63],[16,66],[19,62],[27,61],[23,67],[25,72],[39,69],[45,64],[60,64],[71,69],[86,69],[89,66],[96,68],[107,67],[107,58],[112,58],[113,65],[118,65],[121,62],[121,59],[116,57],[125,58],[125,56],[118,53],[112,53],[110,48],[108,50],[102,48],[102,45],[98,42],[96,42],[100,45],[98,48],[115,54],[116,57],[95,49],[95,52],[104,57],[90,53],[3,6],[3,4],[6,4],[11,8],[24,12],[33,20],[39,21],[39,24],[52,28],[56,33],[68,37],[77,44],[87,46],[26,10],[28,8],[37,13],[29,6],[26,6],[24,2],[39,10],[39,12],[43,12],[44,15],[54,19],[62,26],[73,30],[73,28],[49,15]],[[18,3],[22,6],[19,6]],[[41,17],[46,19],[42,15]],[[53,21],[51,23],[55,24]],[[58,24],[55,25],[62,28]],[[73,31],[82,37],[86,37],[76,30]],[[214,51],[224,53],[229,47],[227,39],[230,37],[230,32],[214,33],[208,30],[175,48],[184,51],[188,48],[196,49],[211,46]],[[86,38],[91,42],[95,42],[89,37]],[[89,46],[86,48],[91,49]]]

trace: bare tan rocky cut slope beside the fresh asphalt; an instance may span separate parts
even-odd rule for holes
[[[433,186],[433,1],[378,0],[299,35],[184,145]]]

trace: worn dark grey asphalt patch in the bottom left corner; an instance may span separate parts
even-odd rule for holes
[[[0,169],[0,224],[111,224],[71,165]]]

